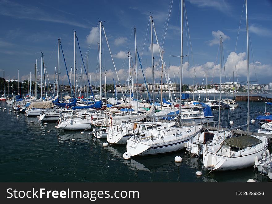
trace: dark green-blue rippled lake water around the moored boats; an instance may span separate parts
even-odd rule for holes
[[[238,104],[234,110],[222,110],[222,126],[228,125],[228,115],[235,126],[246,124],[246,102]],[[37,117],[9,112],[6,102],[0,107],[0,182],[246,182],[250,178],[270,182],[253,167],[211,173],[203,168],[198,177],[202,158],[190,158],[185,150],[125,160],[125,145],[103,147],[106,139],[93,138],[90,131],[59,130],[57,123],[44,125]],[[250,120],[259,111],[265,111],[265,103],[251,102]],[[267,106],[267,111],[272,108]],[[218,120],[219,111],[212,112]],[[250,124],[250,130],[258,127],[257,121]],[[183,158],[180,164],[174,162],[177,155]]]

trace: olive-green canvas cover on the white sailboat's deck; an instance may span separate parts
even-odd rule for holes
[[[239,147],[240,149],[244,149],[246,147],[250,147],[260,143],[261,141],[256,137],[252,137],[249,135],[243,135],[240,137],[230,137],[223,141],[221,144],[226,144],[234,147]]]

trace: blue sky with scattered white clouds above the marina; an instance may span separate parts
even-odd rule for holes
[[[222,82],[247,81],[246,15],[244,0],[185,0],[183,29],[183,83],[219,83],[220,37],[222,37]],[[91,84],[99,85],[99,21],[108,39],[120,83],[129,77],[128,51],[135,66],[134,27],[137,50],[147,82],[152,82],[150,15],[153,16],[159,41],[153,31],[155,82],[161,79],[163,50],[166,74],[171,82],[180,81],[181,1],[12,1],[0,0],[0,77],[5,79],[34,79],[34,63],[41,72],[41,52],[48,79],[55,80],[58,38],[61,39],[68,72],[74,70],[74,31]],[[272,1],[248,0],[249,68],[251,84],[272,81]],[[102,31],[103,32],[103,31]],[[102,33],[102,83],[117,80],[113,61]],[[139,61],[137,61],[139,65]],[[76,78],[86,84],[82,59],[76,46]],[[206,71],[207,70],[207,71]],[[207,74],[206,74],[207,73]],[[74,71],[72,72],[72,79]],[[194,79],[196,77],[196,80]],[[39,77],[38,77],[39,78]],[[47,79],[47,80],[48,80]],[[163,79],[165,82],[166,80]],[[138,81],[144,82],[138,66]],[[136,82],[134,76],[134,83]],[[72,82],[74,83],[74,82]],[[60,84],[68,84],[66,68],[60,55]]]

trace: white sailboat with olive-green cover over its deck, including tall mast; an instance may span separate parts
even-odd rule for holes
[[[249,31],[246,0],[246,27],[247,27],[247,135],[225,139],[218,150],[207,149],[203,153],[203,165],[210,171],[236,170],[253,166],[267,150],[266,136],[249,135]],[[220,113],[220,112],[219,112]]]

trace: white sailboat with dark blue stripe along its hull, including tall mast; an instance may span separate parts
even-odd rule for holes
[[[180,83],[180,98],[182,91],[182,38],[183,38],[183,0],[181,1],[181,83]],[[152,25],[154,28],[154,34],[156,37],[156,42],[159,47],[159,41],[155,31],[155,25],[150,16],[151,24],[151,50],[153,51],[153,40],[152,40]],[[161,50],[159,48],[160,60],[162,60]],[[152,52],[153,61],[153,52]],[[165,67],[163,64],[163,69]],[[168,79],[167,79],[168,82]],[[169,83],[168,83],[169,84]],[[154,90],[154,87],[153,87]],[[171,95],[170,95],[171,96]],[[154,96],[153,96],[154,101]],[[181,100],[179,105],[179,115],[178,115],[178,127],[158,127],[147,130],[143,133],[137,134],[134,137],[130,137],[127,140],[126,150],[131,154],[131,156],[136,155],[151,155],[151,154],[161,154],[168,153],[185,148],[187,141],[197,135],[201,129],[202,125],[192,125],[192,126],[182,126],[181,124]]]

